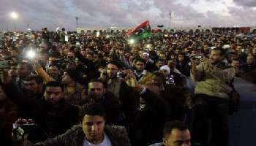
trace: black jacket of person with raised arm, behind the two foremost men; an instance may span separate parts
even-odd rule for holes
[[[138,112],[131,128],[132,145],[148,146],[161,142],[162,129],[170,113],[168,104],[148,89],[140,97],[146,101],[146,106]]]

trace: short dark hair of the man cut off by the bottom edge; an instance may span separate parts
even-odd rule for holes
[[[163,130],[163,137],[164,138],[169,137],[171,132],[175,128],[180,130],[180,131],[185,131],[185,130],[188,129],[187,126],[183,122],[181,122],[179,120],[173,120],[173,121],[165,123],[165,127],[164,127],[164,130]]]

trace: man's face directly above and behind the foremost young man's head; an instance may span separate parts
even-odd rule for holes
[[[106,89],[104,88],[102,82],[90,82],[88,87],[89,96],[96,101],[101,100],[106,93]]]

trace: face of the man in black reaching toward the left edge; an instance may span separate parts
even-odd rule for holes
[[[56,106],[59,104],[59,101],[64,98],[63,91],[61,87],[46,87],[44,93],[45,101],[52,105]]]

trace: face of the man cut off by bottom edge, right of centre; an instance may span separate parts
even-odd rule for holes
[[[173,129],[169,137],[164,138],[165,146],[190,146],[190,133],[189,130],[180,131]]]

